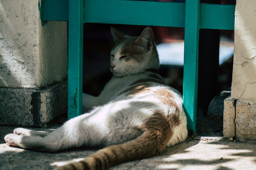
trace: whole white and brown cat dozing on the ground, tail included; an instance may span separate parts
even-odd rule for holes
[[[121,162],[161,153],[188,135],[179,93],[164,85],[157,73],[159,58],[154,33],[146,27],[139,37],[111,29],[113,78],[98,97],[83,94],[84,110],[53,132],[14,129],[8,145],[42,152],[80,146],[105,147],[84,160],[57,169],[106,169]]]

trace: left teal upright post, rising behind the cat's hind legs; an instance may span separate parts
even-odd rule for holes
[[[68,119],[83,109],[83,0],[68,5]]]

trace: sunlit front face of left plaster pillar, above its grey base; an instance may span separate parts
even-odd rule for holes
[[[38,1],[0,2],[0,87],[36,87]]]

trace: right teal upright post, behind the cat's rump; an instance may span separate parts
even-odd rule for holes
[[[200,0],[186,0],[183,104],[188,129],[196,132]]]

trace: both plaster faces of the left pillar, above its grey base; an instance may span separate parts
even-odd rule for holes
[[[0,1],[0,87],[47,87],[67,78],[67,22],[41,25],[40,1]]]

